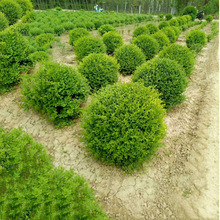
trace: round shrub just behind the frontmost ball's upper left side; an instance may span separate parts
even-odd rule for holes
[[[79,72],[88,79],[92,92],[117,82],[118,70],[117,60],[106,54],[90,54],[79,66]]]

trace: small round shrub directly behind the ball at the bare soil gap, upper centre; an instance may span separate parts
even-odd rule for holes
[[[124,43],[122,35],[112,31],[105,33],[102,37],[102,40],[109,54],[113,53]]]

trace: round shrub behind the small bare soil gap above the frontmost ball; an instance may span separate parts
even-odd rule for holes
[[[138,66],[145,62],[145,55],[136,45],[128,44],[115,51],[115,58],[119,63],[119,70],[123,75],[132,74]]]

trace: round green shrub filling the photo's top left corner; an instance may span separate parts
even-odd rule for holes
[[[16,23],[22,15],[21,6],[13,0],[1,0],[0,11],[5,14],[9,25]]]

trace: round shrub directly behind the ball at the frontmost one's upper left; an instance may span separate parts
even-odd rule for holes
[[[106,53],[106,47],[101,39],[93,36],[85,36],[79,38],[75,42],[74,51],[76,54],[76,59],[81,61],[84,57],[91,53]]]

